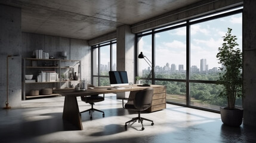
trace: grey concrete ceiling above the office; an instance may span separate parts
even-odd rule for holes
[[[1,0],[21,8],[22,32],[92,39],[202,0]]]

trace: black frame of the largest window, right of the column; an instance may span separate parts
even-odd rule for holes
[[[155,49],[156,48],[155,47],[155,35],[156,35],[156,33],[164,32],[164,31],[172,30],[172,29],[177,29],[177,28],[186,26],[186,79],[157,79],[157,78],[155,78],[155,67],[152,67],[152,77],[150,77],[150,79],[149,79],[152,81],[152,84],[155,84],[156,80],[162,80],[162,81],[168,81],[168,82],[186,82],[186,105],[179,104],[177,102],[166,101],[168,104],[181,105],[181,106],[185,106],[185,107],[197,108],[200,110],[206,110],[206,111],[212,111],[215,113],[220,113],[219,110],[214,110],[211,108],[196,107],[196,106],[190,105],[190,83],[217,84],[216,80],[192,80],[192,79],[190,79],[190,56],[191,56],[190,55],[190,26],[193,24],[202,23],[205,21],[214,20],[214,19],[221,18],[221,17],[227,17],[227,16],[235,15],[235,14],[243,14],[243,7],[242,6],[233,7],[233,8],[229,8],[227,10],[218,11],[218,12],[210,13],[210,14],[205,14],[205,15],[202,15],[201,17],[191,18],[186,21],[179,21],[178,23],[181,23],[181,24],[178,24],[178,23],[169,24],[167,26],[164,26],[164,27],[167,27],[166,29],[164,27],[158,27],[156,29],[159,29],[159,30],[152,29],[152,30],[147,30],[144,33],[143,32],[136,33],[136,35],[135,35],[135,43],[136,43],[135,44],[135,55],[138,55],[138,52],[140,52],[140,51],[138,51],[138,39],[142,38],[143,36],[152,35],[152,64],[155,65],[155,50],[156,50]],[[206,18],[203,18],[203,17],[206,17]],[[149,32],[149,31],[151,31],[151,32]],[[139,73],[138,58],[135,58],[135,76],[138,76],[138,73]],[[142,79],[145,80],[146,77],[143,77]]]

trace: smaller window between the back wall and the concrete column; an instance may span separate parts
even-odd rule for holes
[[[109,71],[116,70],[116,41],[92,46],[92,84],[109,85]]]

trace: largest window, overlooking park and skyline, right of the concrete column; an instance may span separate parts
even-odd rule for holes
[[[218,111],[226,100],[218,96],[223,86],[216,82],[221,67],[216,55],[228,27],[242,49],[242,8],[138,33],[137,53],[154,67],[138,60],[136,76],[145,80],[152,70],[150,82],[166,85],[167,102]]]

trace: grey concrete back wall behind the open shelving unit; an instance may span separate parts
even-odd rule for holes
[[[81,60],[81,79],[91,82],[91,48],[87,41],[81,39],[63,38],[58,36],[22,33],[22,58],[32,58],[33,51],[42,49],[55,59],[61,59],[61,52],[67,52],[67,60]],[[38,72],[37,69],[33,71]],[[75,86],[77,83],[62,83],[61,88]],[[53,88],[56,85],[26,85],[26,93],[31,89]],[[57,87],[57,86],[56,86]]]

